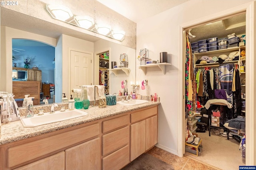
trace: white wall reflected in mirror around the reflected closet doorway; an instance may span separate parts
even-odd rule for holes
[[[110,50],[110,61],[109,61],[109,68],[111,68],[111,61],[116,61],[117,65],[120,65],[120,54],[126,53],[128,59],[128,68],[130,68],[130,73],[127,76],[123,71],[119,70],[118,74],[115,75],[110,71],[109,75],[109,82],[110,82],[110,94],[114,94],[119,92],[124,92],[124,89],[121,88],[121,82],[128,80],[127,88],[128,92],[132,91],[130,82],[135,82],[135,49],[130,47],[125,47],[120,44],[112,43],[106,40],[99,40],[94,43],[94,53],[99,54],[105,51]],[[98,57],[98,56],[97,56]],[[97,68],[96,68],[97,69]],[[98,72],[96,72],[98,74]],[[98,75],[95,76],[98,78]],[[126,84],[125,84],[126,85]]]

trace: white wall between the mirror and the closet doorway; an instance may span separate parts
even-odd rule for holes
[[[148,80],[148,88],[140,90],[142,95],[157,93],[160,97],[158,109],[158,144],[157,146],[173,154],[178,154],[178,68],[179,26],[211,14],[228,10],[253,0],[190,0],[156,16],[137,23],[136,55],[140,49],[150,50],[150,59],[160,60],[160,52],[168,52],[166,74],[158,67],[147,68],[146,75],[136,67],[136,80]],[[137,66],[139,61],[136,62]]]

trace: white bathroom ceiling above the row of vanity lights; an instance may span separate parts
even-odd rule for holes
[[[126,18],[138,22],[189,0],[97,0]]]

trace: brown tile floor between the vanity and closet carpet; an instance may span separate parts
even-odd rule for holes
[[[213,166],[204,164],[195,158],[183,156],[182,158],[158,147],[150,149],[148,154],[172,165],[175,170],[219,170]]]

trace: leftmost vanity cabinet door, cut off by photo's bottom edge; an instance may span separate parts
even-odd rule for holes
[[[65,152],[59,152],[14,170],[65,170]]]

